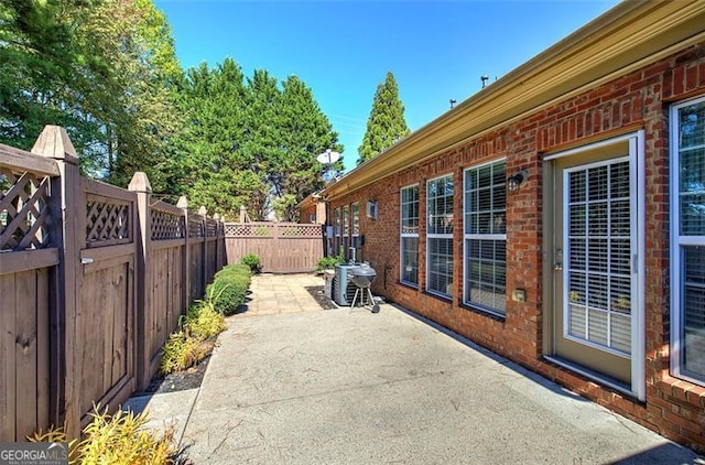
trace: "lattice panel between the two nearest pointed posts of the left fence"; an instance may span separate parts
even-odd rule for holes
[[[131,204],[112,198],[88,197],[86,202],[86,242],[129,242]]]

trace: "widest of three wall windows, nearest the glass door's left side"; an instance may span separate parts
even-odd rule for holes
[[[507,305],[507,169],[465,171],[465,303],[503,315]]]

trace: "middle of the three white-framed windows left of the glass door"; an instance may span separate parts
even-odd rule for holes
[[[453,175],[426,185],[426,290],[453,294]]]

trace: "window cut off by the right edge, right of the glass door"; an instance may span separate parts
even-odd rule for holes
[[[705,98],[671,110],[673,345],[677,376],[705,382]]]

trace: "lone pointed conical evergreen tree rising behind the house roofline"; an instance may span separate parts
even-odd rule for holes
[[[362,144],[357,149],[358,164],[380,154],[411,131],[404,120],[404,106],[399,99],[399,87],[391,72],[384,83],[377,86],[372,110],[367,120]]]

